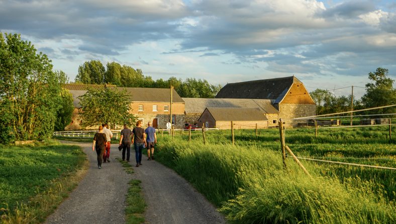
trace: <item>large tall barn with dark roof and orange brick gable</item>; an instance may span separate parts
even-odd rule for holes
[[[316,115],[314,100],[304,84],[294,76],[229,83],[219,91],[216,98],[271,100],[286,126],[298,126],[301,122],[307,122],[294,121],[293,118]],[[273,119],[270,123],[275,124],[277,121]]]

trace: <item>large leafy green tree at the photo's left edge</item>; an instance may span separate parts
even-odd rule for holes
[[[0,33],[0,141],[50,137],[61,86],[51,60],[19,34]]]

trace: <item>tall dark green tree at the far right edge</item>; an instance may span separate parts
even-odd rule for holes
[[[366,108],[396,104],[396,89],[393,88],[394,80],[388,78],[388,69],[378,67],[375,72],[368,73],[368,79],[372,83],[366,84],[366,93],[362,97],[362,103]],[[396,107],[371,110],[370,114],[395,113]]]

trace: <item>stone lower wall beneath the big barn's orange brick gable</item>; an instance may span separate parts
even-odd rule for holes
[[[293,120],[297,117],[316,115],[315,104],[279,104],[279,118],[285,122],[286,127],[296,127],[299,123],[307,123],[307,120]]]

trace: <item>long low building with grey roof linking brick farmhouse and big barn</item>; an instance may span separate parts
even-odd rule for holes
[[[185,122],[199,121],[206,108],[257,108],[270,120],[269,126],[276,126],[272,120],[278,120],[279,112],[272,105],[271,100],[262,99],[220,99],[220,98],[181,98],[185,102]],[[205,121],[204,121],[205,122]],[[255,125],[255,124],[254,124]],[[267,124],[265,124],[267,127]],[[229,127],[231,128],[231,127]]]

